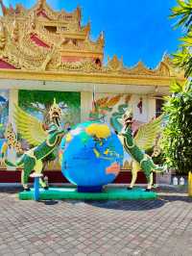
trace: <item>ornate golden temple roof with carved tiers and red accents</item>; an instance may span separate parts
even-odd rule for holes
[[[116,55],[104,65],[104,34],[90,39],[90,23],[82,25],[80,7],[66,13],[53,11],[46,0],[37,0],[31,9],[20,4],[7,8],[2,0],[0,4],[0,69],[183,79],[168,56],[155,69],[141,62],[125,67]]]

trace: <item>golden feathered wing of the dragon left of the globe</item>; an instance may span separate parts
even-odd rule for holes
[[[17,132],[30,144],[36,146],[46,139],[47,133],[42,128],[42,122],[18,106],[15,106],[14,121]]]

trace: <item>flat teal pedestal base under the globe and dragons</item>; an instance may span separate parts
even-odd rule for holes
[[[19,192],[19,199],[34,200],[34,190],[30,192]],[[144,189],[105,188],[103,192],[78,192],[76,188],[50,188],[48,191],[39,190],[40,200],[146,200],[156,199],[156,192],[145,192]]]

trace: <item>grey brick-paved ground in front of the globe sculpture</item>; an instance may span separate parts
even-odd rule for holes
[[[0,255],[192,255],[192,199],[19,201],[0,189]]]

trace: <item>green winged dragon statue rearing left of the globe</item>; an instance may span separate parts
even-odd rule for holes
[[[14,119],[17,125],[17,131],[22,138],[33,144],[34,147],[24,152],[23,155],[13,164],[6,159],[5,153],[9,146],[10,140],[15,138],[7,138],[8,145],[4,145],[2,152],[3,162],[7,166],[23,166],[21,173],[21,183],[25,191],[30,191],[28,180],[33,170],[41,173],[47,164],[47,161],[56,159],[55,151],[60,145],[61,138],[65,134],[65,129],[60,128],[61,109],[54,99],[54,104],[49,111],[50,124],[48,129],[43,129],[43,124],[35,116],[29,115],[19,107],[15,107]],[[39,179],[42,188],[48,189],[47,184],[42,178]]]

